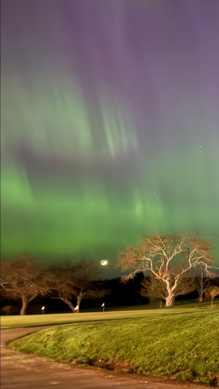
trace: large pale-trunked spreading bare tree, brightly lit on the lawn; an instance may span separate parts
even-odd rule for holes
[[[214,262],[210,255],[212,248],[212,245],[199,237],[190,238],[180,234],[144,237],[139,245],[127,247],[126,251],[120,252],[117,267],[132,270],[123,277],[124,282],[138,272],[150,270],[156,279],[162,280],[166,285],[166,307],[171,307],[181,277],[198,265],[205,266],[206,272],[209,271],[210,264]],[[172,276],[170,265],[176,259],[180,266]]]

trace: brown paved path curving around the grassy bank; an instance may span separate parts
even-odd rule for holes
[[[49,328],[43,327],[43,328]],[[207,389],[203,385],[117,373],[100,368],[77,368],[49,358],[12,351],[6,344],[42,327],[1,331],[1,389]]]

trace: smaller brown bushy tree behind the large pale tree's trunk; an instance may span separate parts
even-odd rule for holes
[[[175,283],[175,276],[180,272],[180,269],[177,267],[169,269],[170,275],[170,284]],[[162,307],[162,301],[166,301],[168,298],[168,291],[166,288],[166,283],[164,280],[155,277],[152,274],[150,277],[145,278],[142,282],[141,296],[148,297],[150,300],[157,300]],[[187,275],[182,275],[177,283],[177,286],[174,290],[174,299],[177,296],[184,295],[190,292],[193,292],[196,287],[194,277],[188,277]]]

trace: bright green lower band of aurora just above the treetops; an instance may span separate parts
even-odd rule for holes
[[[87,255],[100,259],[107,247],[107,256],[118,249],[138,242],[145,233],[187,230],[197,225],[201,230],[217,226],[214,209],[197,203],[172,207],[171,213],[156,196],[142,197],[133,192],[127,202],[115,194],[110,204],[104,186],[84,183],[81,193],[69,185],[65,193],[54,187],[42,186],[42,192],[32,194],[25,174],[4,170],[1,176],[2,253],[30,252],[49,255]],[[41,183],[42,185],[42,183]],[[66,189],[66,188],[65,188]],[[100,248],[100,250],[99,250]]]

